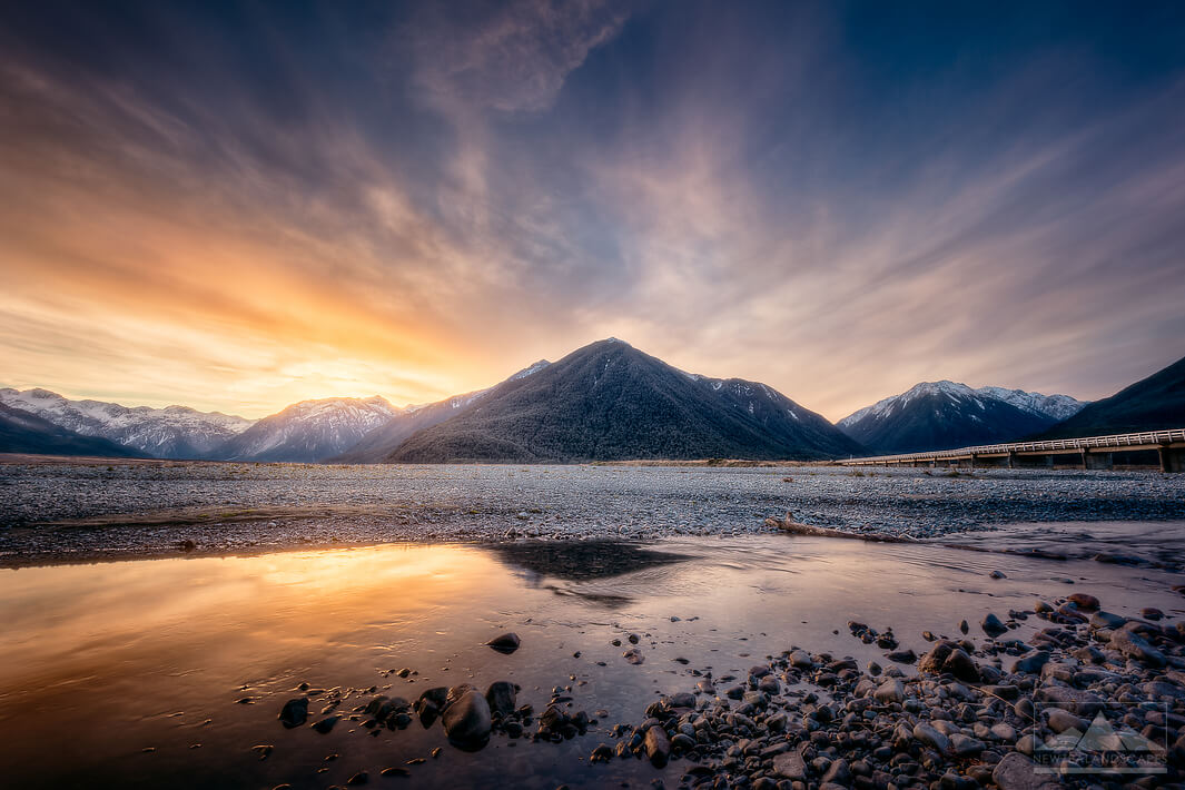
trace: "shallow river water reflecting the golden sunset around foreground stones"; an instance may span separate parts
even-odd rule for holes
[[[1138,537],[1129,544],[1176,545],[1185,524],[1017,526],[979,540],[994,550],[1026,534],[1089,555],[1094,541],[1125,534]],[[1007,578],[989,578],[992,570]],[[656,694],[691,691],[693,669],[743,674],[790,646],[886,663],[848,634],[848,619],[892,627],[902,647],[922,653],[922,630],[955,634],[962,618],[1077,590],[1110,611],[1152,605],[1180,617],[1185,598],[1171,586],[1181,582],[1087,559],[781,534],[389,544],[5,570],[0,776],[9,786],[325,788],[360,770],[386,783],[383,767],[442,746],[438,759],[409,767],[415,784],[648,786],[661,776],[672,785],[685,763],[658,771],[640,760],[589,765],[588,754],[613,743],[617,721],[640,721]],[[1043,624],[1030,619],[1018,635]],[[483,647],[506,630],[523,638],[517,653]],[[611,644],[629,631],[642,635],[641,666],[621,657],[628,643]],[[386,675],[401,667],[418,674]],[[301,682],[415,699],[433,686],[485,689],[495,680],[519,683],[519,702],[537,711],[552,687],[570,685],[577,709],[609,715],[559,745],[495,734],[474,753],[449,746],[440,725],[371,737],[341,721],[321,736],[276,720]],[[372,695],[353,694],[341,711]],[[275,746],[267,760],[251,751],[262,744]],[[326,762],[331,754],[339,757]]]

